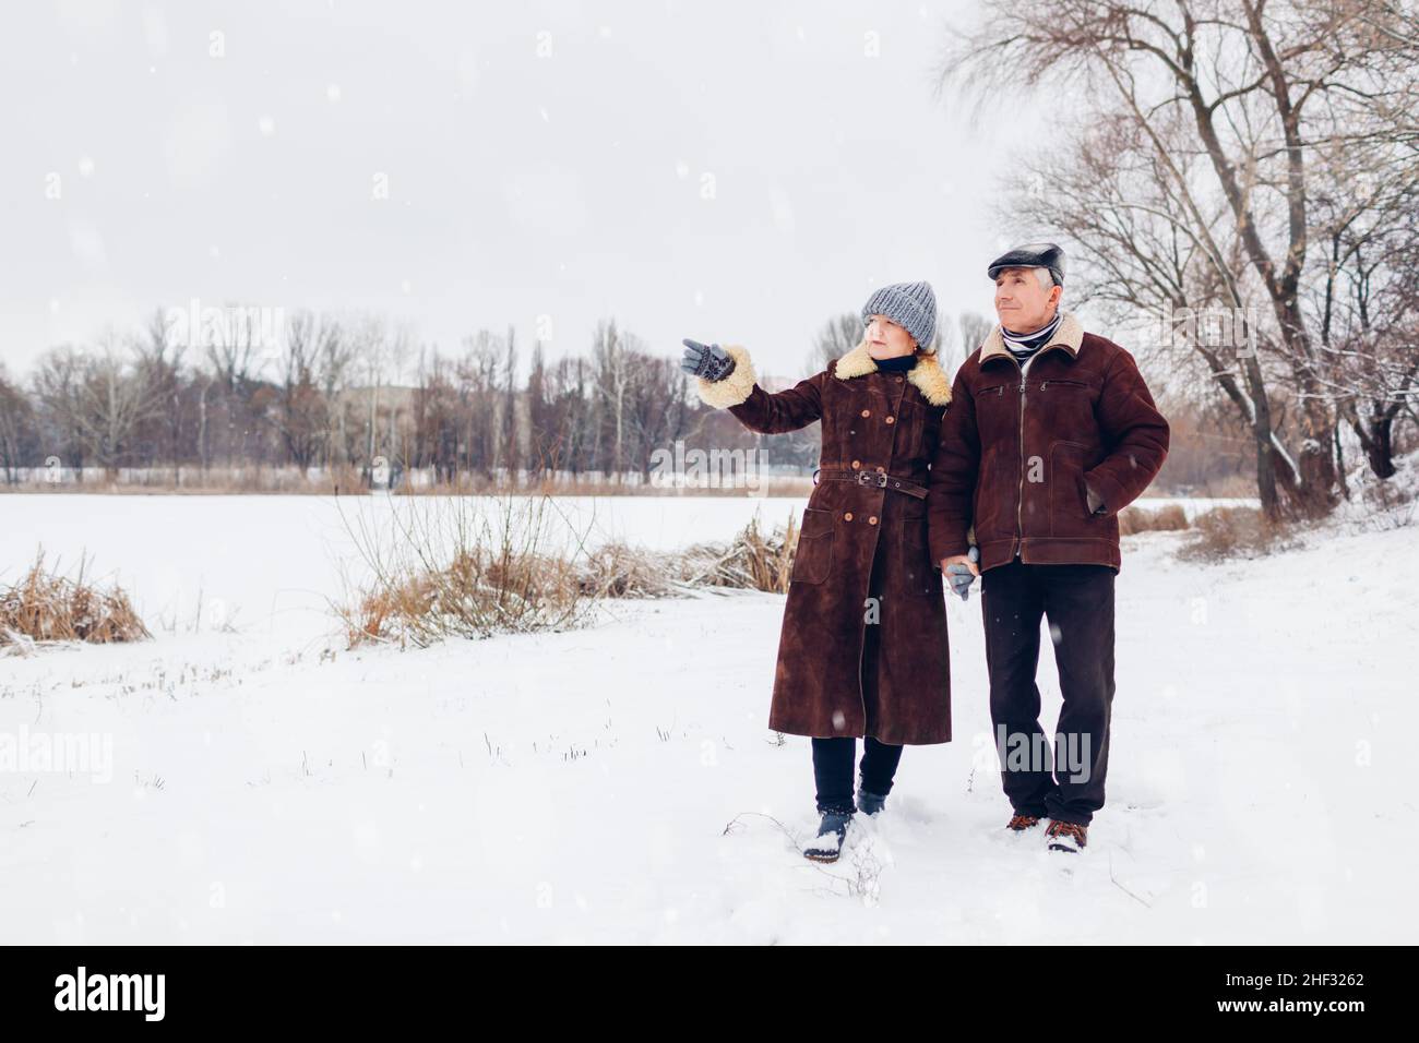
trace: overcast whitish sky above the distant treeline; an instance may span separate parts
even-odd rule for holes
[[[614,315],[799,376],[883,282],[989,314],[992,184],[1030,142],[934,95],[971,10],[17,4],[0,359],[197,298],[383,312],[444,351],[512,324],[552,356]]]

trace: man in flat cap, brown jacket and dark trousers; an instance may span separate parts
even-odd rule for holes
[[[962,599],[982,578],[1009,829],[1049,816],[1049,849],[1077,853],[1104,806],[1118,512],[1162,467],[1168,421],[1132,356],[1060,311],[1059,245],[1010,250],[988,272],[1000,325],[955,377],[931,468],[931,555]],[[1034,684],[1042,617],[1064,697],[1053,751]]]

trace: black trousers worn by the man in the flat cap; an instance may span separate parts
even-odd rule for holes
[[[1087,826],[1104,806],[1114,702],[1114,570],[1025,565],[982,576],[992,736],[1005,795],[1017,813]],[[1050,622],[1060,710],[1053,748],[1040,728],[1040,617]]]

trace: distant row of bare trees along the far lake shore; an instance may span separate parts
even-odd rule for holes
[[[0,368],[0,475],[13,484],[48,464],[203,484],[217,470],[294,467],[368,480],[383,460],[437,482],[644,480],[677,440],[758,444],[800,468],[817,457],[816,430],[759,437],[705,407],[678,355],[647,351],[614,319],[585,355],[555,362],[541,342],[522,359],[512,329],[480,331],[455,353],[375,316],[302,311],[274,332],[244,308],[192,336],[159,312],[140,332],[48,351],[28,380]]]

